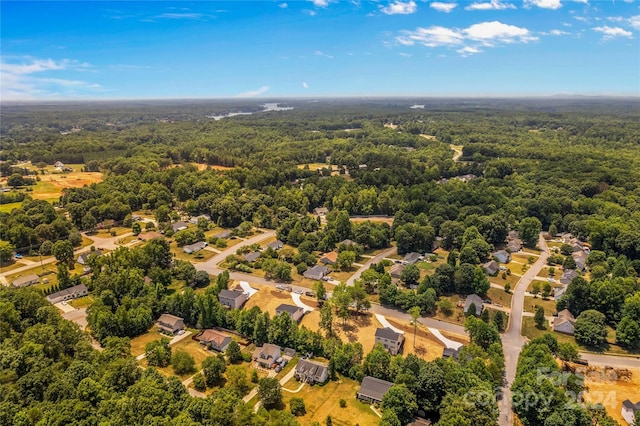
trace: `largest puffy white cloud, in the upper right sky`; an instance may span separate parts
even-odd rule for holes
[[[464,29],[440,26],[418,27],[413,31],[401,31],[396,37],[396,42],[403,46],[459,47],[456,51],[463,56],[480,53],[483,51],[482,47],[529,43],[536,40],[538,37],[532,35],[528,29],[498,21],[482,22]]]

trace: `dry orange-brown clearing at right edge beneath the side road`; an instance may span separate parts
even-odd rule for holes
[[[628,368],[629,380],[611,369],[606,371],[590,371],[585,374],[587,390],[583,396],[585,401],[594,404],[602,404],[607,414],[613,417],[621,425],[626,424],[622,417],[622,402],[631,399],[637,402],[638,389],[640,389],[640,368]]]

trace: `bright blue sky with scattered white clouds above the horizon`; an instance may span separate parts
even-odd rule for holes
[[[640,96],[640,1],[2,1],[1,99]]]

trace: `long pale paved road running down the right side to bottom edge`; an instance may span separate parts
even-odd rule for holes
[[[513,424],[513,411],[511,408],[511,385],[516,377],[516,366],[518,365],[518,356],[522,351],[522,346],[526,343],[526,339],[522,336],[522,313],[524,311],[524,296],[531,281],[535,279],[542,267],[547,263],[549,250],[547,243],[542,238],[538,238],[538,247],[542,250],[538,260],[522,275],[513,291],[511,299],[511,315],[509,316],[509,325],[506,332],[502,335],[502,347],[504,350],[505,371],[507,386],[503,389],[503,397],[498,408],[500,416],[498,424],[503,426],[511,426]]]

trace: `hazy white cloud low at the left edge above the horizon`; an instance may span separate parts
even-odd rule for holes
[[[27,100],[78,97],[102,90],[102,86],[82,80],[51,77],[61,71],[86,71],[91,65],[70,59],[55,61],[32,57],[0,60],[0,98]],[[42,76],[38,76],[42,75]]]

